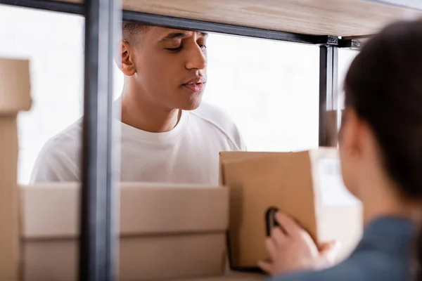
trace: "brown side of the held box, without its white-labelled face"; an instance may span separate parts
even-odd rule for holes
[[[285,211],[316,237],[314,190],[308,152],[244,156],[222,165],[231,200],[229,251],[231,266],[256,267],[257,261],[269,259],[264,248],[267,208]]]

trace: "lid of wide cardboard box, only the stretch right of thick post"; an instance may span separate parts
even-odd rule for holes
[[[123,183],[123,234],[226,231],[229,190],[210,185]]]

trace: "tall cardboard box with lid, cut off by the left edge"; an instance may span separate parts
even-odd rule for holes
[[[18,128],[20,110],[29,110],[27,60],[0,58],[0,280],[18,280]]]

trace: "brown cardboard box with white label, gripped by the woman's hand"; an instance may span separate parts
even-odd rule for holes
[[[345,189],[334,148],[222,152],[220,171],[230,189],[231,268],[256,268],[257,261],[269,259],[264,248],[268,207],[297,219],[317,244],[340,240],[338,261],[362,235],[362,204]]]

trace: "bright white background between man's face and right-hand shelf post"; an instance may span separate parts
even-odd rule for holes
[[[248,150],[318,146],[319,48],[212,34],[205,100],[229,112]]]

